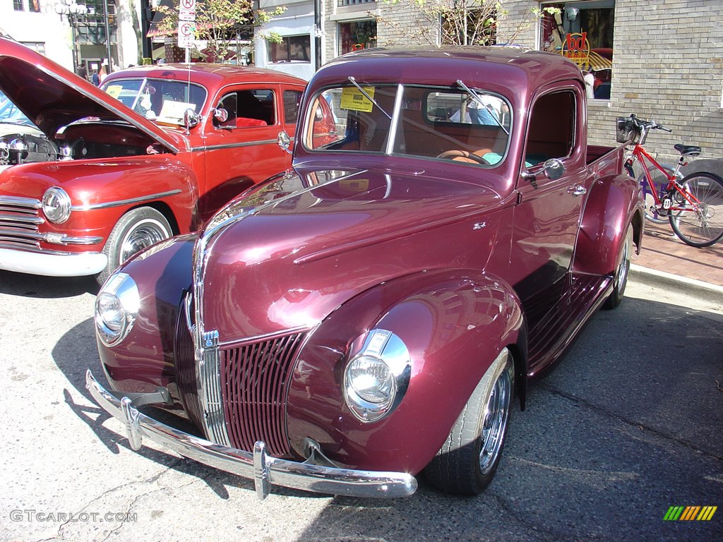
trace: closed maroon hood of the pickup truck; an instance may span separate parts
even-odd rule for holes
[[[198,241],[203,327],[226,342],[313,327],[385,280],[450,267],[445,235],[502,205],[492,184],[429,175],[279,176],[219,212]],[[411,236],[429,239],[424,254]]]

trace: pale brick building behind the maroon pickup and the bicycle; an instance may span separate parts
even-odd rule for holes
[[[534,16],[547,7],[558,14]],[[354,48],[440,41],[440,23],[412,1],[323,0],[323,9],[323,61]],[[502,0],[502,10],[497,43],[568,56],[581,54],[578,44],[591,51],[580,64],[594,74],[592,144],[614,143],[615,118],[636,113],[673,130],[646,142],[659,159],[675,162],[679,142],[701,145],[705,158],[723,158],[723,2]]]

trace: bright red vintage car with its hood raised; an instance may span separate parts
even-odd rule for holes
[[[0,39],[0,90],[38,127],[0,138],[0,269],[98,275],[195,231],[288,168],[306,82],[213,64],[142,66],[101,89]],[[117,99],[116,99],[117,98]]]

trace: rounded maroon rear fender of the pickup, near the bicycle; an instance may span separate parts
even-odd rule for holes
[[[573,259],[573,271],[610,275],[625,242],[628,225],[640,253],[643,236],[641,186],[632,178],[602,178],[591,187],[583,210]]]

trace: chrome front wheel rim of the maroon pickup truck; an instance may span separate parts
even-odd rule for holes
[[[479,451],[479,470],[483,475],[492,470],[502,450],[511,394],[510,371],[505,368],[497,377],[497,382],[492,387],[492,392],[487,399],[487,408],[484,409],[484,423],[480,435],[482,447]]]

